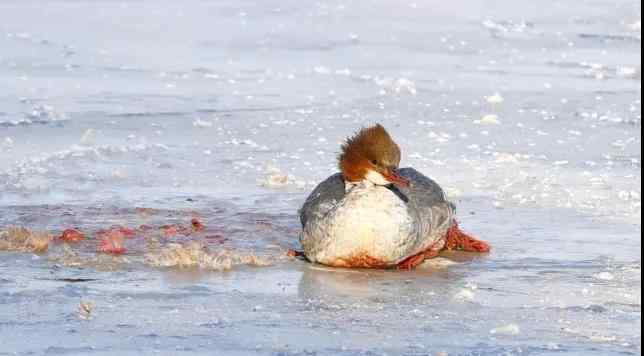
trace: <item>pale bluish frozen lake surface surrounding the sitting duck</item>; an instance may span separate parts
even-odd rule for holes
[[[285,257],[374,122],[490,256]],[[0,230],[207,229],[0,252],[0,355],[641,355],[641,126],[634,0],[3,0]]]

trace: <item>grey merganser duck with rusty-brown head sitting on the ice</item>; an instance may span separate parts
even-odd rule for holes
[[[342,146],[341,173],[321,183],[300,210],[304,256],[342,268],[413,269],[443,250],[487,253],[462,232],[443,189],[413,168],[387,130],[359,131]]]

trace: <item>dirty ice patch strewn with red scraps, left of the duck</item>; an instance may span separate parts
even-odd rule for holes
[[[31,253],[65,267],[125,266],[229,271],[286,260],[296,230],[283,217],[228,209],[11,208],[0,251]],[[12,216],[13,215],[13,216]],[[19,217],[15,219],[14,217]],[[23,226],[36,226],[30,230]]]

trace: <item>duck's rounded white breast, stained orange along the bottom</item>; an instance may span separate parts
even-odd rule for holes
[[[304,228],[307,257],[336,267],[385,267],[429,248],[417,218],[391,190],[361,184]]]

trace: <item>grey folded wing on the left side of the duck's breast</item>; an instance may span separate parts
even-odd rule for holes
[[[311,193],[300,210],[300,221],[302,222],[302,226],[306,226],[308,221],[315,216],[324,215],[330,207],[342,201],[346,194],[342,174],[338,173],[322,182],[317,188],[315,188],[313,193]]]

